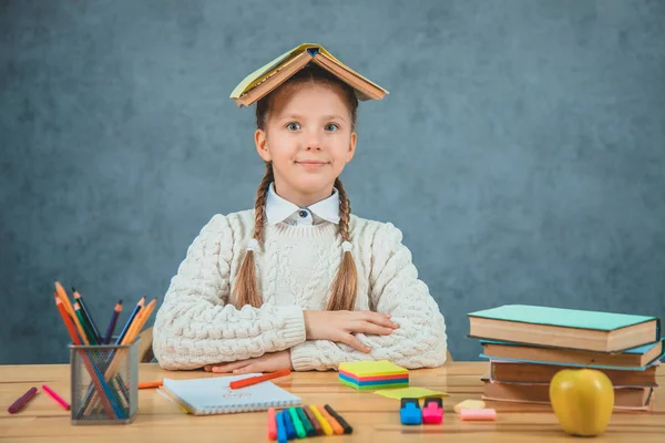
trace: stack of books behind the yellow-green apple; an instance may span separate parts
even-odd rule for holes
[[[550,403],[550,381],[562,369],[604,372],[615,410],[648,410],[664,353],[655,317],[507,305],[468,315],[481,340],[483,399]]]

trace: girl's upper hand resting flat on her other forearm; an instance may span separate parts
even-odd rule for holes
[[[360,352],[371,349],[354,333],[389,336],[399,328],[390,315],[374,311],[303,311],[307,340],[330,340],[350,346]]]

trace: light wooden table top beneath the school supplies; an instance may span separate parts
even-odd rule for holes
[[[412,387],[426,387],[450,393],[444,399],[442,425],[402,426],[399,402],[369,392],[342,387],[336,372],[295,373],[276,384],[299,395],[306,404],[330,403],[354,426],[354,434],[315,437],[323,442],[550,442],[574,440],[563,433],[546,405],[490,403],[497,409],[497,422],[461,422],[452,411],[464,399],[479,399],[485,362],[453,362],[438,369],[410,372]],[[156,364],[141,364],[141,381],[162,378],[188,379],[211,377],[202,371],[170,372]],[[140,390],[139,415],[126,425],[70,424],[69,412],[43,393],[32,399],[21,412],[10,415],[7,408],[31,387],[49,384],[69,401],[69,365],[0,367],[0,442],[263,442],[266,413],[193,416],[154,390]],[[665,367],[658,369],[658,383],[665,384]],[[651,412],[615,413],[610,427],[594,442],[665,442],[665,395],[657,392]]]

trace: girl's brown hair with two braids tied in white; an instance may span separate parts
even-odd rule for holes
[[[256,104],[256,126],[259,130],[265,130],[267,116],[273,107],[276,96],[286,94],[294,87],[301,86],[304,84],[325,84],[337,89],[348,105],[349,114],[351,116],[351,128],[352,131],[356,131],[358,99],[356,97],[354,89],[337,79],[335,75],[330,74],[328,71],[314,64],[308,64],[275,91],[258,101]],[[273,164],[267,163],[266,173],[260,182],[260,185],[258,186],[256,199],[254,202],[255,216],[252,238],[258,241],[259,245],[264,240],[264,229],[266,224],[266,196],[268,194],[268,187],[273,181]],[[349,234],[349,219],[351,206],[339,177],[335,179],[335,187],[339,194],[339,235],[342,243],[350,243],[351,238]],[[233,300],[235,307],[238,309],[245,305],[258,308],[263,303],[262,296],[258,291],[255,267],[256,264],[254,259],[254,251],[248,249],[241,265],[234,288]],[[354,261],[350,250],[342,251],[341,262],[339,265],[337,276],[332,280],[330,301],[328,302],[327,309],[354,310],[356,305],[357,289],[358,270],[356,269],[356,262]]]

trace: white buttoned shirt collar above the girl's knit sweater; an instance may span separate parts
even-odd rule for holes
[[[266,199],[268,225],[286,223],[291,226],[313,226],[321,223],[339,223],[339,193],[332,188],[332,195],[308,207],[300,207],[282,198],[270,183]]]

